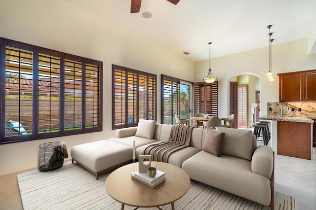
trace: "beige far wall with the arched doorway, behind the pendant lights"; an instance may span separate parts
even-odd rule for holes
[[[273,50],[275,81],[269,82],[269,47],[211,59],[212,74],[219,80],[219,117],[228,116],[229,81],[242,74],[260,77],[261,115],[266,114],[268,102],[278,102],[276,73],[316,69],[316,54],[308,54],[308,39],[276,44]],[[195,82],[203,81],[208,72],[208,60],[195,63]],[[256,87],[255,87],[256,88]]]

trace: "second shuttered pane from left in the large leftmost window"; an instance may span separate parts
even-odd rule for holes
[[[60,58],[39,54],[39,133],[60,130]]]

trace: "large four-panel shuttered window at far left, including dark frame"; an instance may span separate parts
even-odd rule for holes
[[[0,59],[0,143],[102,131],[102,62],[4,38]]]

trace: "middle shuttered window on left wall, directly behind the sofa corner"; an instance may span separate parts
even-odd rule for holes
[[[112,129],[157,120],[157,75],[112,65]]]

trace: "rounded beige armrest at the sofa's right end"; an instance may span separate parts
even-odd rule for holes
[[[274,168],[273,150],[269,146],[259,145],[251,159],[251,172],[271,178]]]

